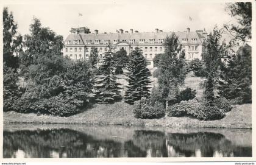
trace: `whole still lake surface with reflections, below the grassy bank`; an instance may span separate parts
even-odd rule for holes
[[[252,156],[252,131],[4,124],[4,158]]]

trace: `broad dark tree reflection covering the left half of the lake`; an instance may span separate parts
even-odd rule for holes
[[[3,147],[4,158],[14,157],[18,149],[32,158],[49,158],[52,151],[69,158],[122,156],[120,142],[95,140],[69,129],[4,131]]]

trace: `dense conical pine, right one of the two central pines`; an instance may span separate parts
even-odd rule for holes
[[[130,55],[130,60],[127,65],[129,71],[128,85],[124,99],[127,103],[133,104],[140,100],[141,97],[148,98],[149,93],[149,69],[146,68],[146,59],[142,55],[141,49],[138,47]]]

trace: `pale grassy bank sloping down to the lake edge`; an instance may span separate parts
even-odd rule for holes
[[[4,112],[5,123],[65,123],[99,125],[140,125],[161,127],[212,127],[212,128],[252,128],[251,104],[235,105],[226,117],[217,121],[199,121],[187,117],[164,117],[161,119],[136,119],[132,106],[124,102],[111,105],[94,105],[92,108],[70,117]]]

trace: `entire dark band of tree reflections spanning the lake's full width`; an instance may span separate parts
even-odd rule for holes
[[[252,156],[252,147],[233,146],[219,133],[137,130],[132,138],[122,143],[69,129],[4,131],[3,155],[13,158],[22,150],[32,158]]]

